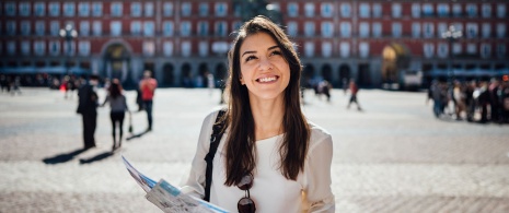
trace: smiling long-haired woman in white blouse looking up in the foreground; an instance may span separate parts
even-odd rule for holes
[[[213,158],[210,202],[231,212],[244,212],[246,200],[256,212],[334,212],[332,138],[301,111],[302,66],[292,43],[270,20],[256,16],[241,27],[229,63],[227,129]],[[217,115],[204,120],[182,188],[199,198]]]

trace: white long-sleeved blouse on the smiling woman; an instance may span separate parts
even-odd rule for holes
[[[218,111],[208,115],[201,126],[198,147],[193,159],[187,181],[182,187],[184,193],[204,198],[205,170],[204,159],[210,146],[210,134]],[[310,123],[311,140],[304,170],[297,180],[288,180],[279,167],[279,144],[284,134],[256,141],[256,168],[251,199],[255,202],[256,212],[334,212],[335,199],[331,190],[331,163],[333,142],[331,134],[322,128]],[[236,186],[224,185],[227,169],[224,167],[224,143],[230,129],[227,129],[213,158],[212,186],[210,202],[230,212],[238,212],[236,203],[245,196],[245,191]]]

